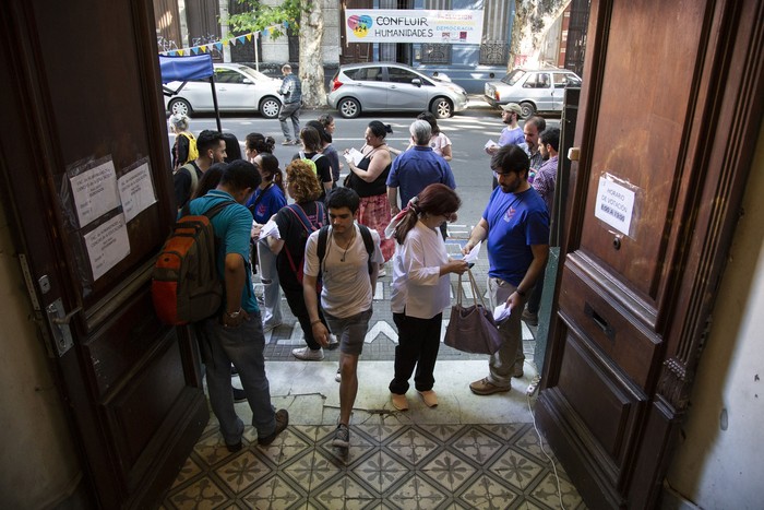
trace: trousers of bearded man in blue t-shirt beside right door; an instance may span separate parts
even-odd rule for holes
[[[488,277],[488,295],[491,301],[490,309],[493,310],[500,303],[506,303],[506,298],[515,292],[515,286],[503,280]],[[512,373],[515,364],[521,366],[525,361],[523,354],[523,324],[521,316],[523,306],[512,309],[512,313],[499,325],[502,343],[499,351],[491,355],[488,361],[490,373],[488,382],[491,384],[509,388],[511,386]]]

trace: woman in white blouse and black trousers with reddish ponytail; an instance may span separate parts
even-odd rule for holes
[[[414,386],[429,407],[438,405],[432,391],[440,347],[443,309],[451,304],[450,273],[467,271],[463,260],[451,260],[439,227],[458,210],[462,201],[445,185],[430,185],[396,217],[391,307],[398,329],[395,377],[390,382],[393,406],[408,408],[406,391]],[[416,368],[416,373],[415,373]]]

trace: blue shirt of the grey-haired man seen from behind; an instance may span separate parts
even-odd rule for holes
[[[456,189],[456,180],[451,167],[432,151],[432,147],[415,145],[393,162],[387,176],[387,186],[401,191],[401,209],[429,185],[440,182]]]

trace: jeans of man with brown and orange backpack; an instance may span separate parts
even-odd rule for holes
[[[238,328],[224,328],[217,317],[207,319],[199,342],[206,365],[210,404],[226,444],[237,444],[244,431],[244,424],[234,408],[231,363],[239,370],[258,437],[270,436],[276,429],[276,414],[271,405],[271,388],[265,376],[265,337],[260,312],[250,312],[249,318]]]

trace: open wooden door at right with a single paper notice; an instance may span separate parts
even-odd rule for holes
[[[658,501],[761,124],[762,9],[592,2],[536,408],[590,508]]]

